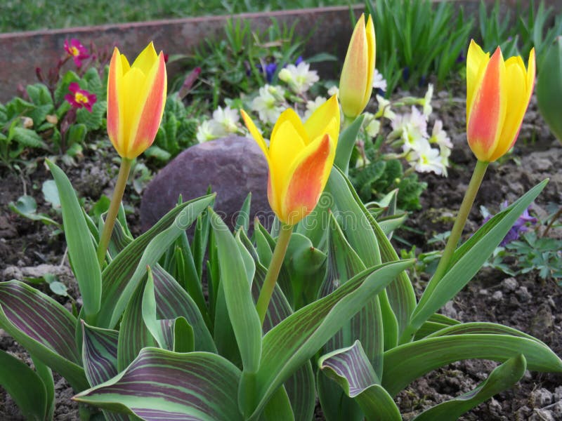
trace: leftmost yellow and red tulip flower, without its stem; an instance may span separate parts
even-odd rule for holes
[[[166,102],[164,53],[152,42],[133,65],[115,48],[107,81],[107,134],[126,159],[142,154],[156,137]]]

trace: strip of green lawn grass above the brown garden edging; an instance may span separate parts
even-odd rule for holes
[[[349,0],[1,0],[0,32],[346,6]]]

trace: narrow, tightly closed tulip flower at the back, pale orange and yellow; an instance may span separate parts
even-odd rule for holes
[[[372,18],[369,16],[365,28],[365,16],[361,15],[353,29],[339,79],[339,101],[348,119],[361,114],[371,98],[375,47]]]

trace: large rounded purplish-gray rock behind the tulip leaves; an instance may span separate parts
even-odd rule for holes
[[[145,189],[141,225],[149,229],[178,202],[216,192],[214,209],[229,227],[251,192],[250,221],[258,216],[264,225],[273,220],[267,199],[268,165],[254,140],[229,136],[192,146],[162,168]]]

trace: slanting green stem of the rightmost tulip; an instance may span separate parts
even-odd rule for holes
[[[464,199],[462,199],[461,207],[459,208],[459,215],[455,219],[455,225],[453,225],[451,230],[451,235],[447,240],[447,245],[445,246],[445,250],[443,250],[443,255],[441,256],[441,260],[439,260],[439,264],[437,265],[437,269],[435,274],[433,274],[433,278],[431,279],[432,282],[436,285],[443,276],[447,273],[447,269],[449,269],[449,264],[452,259],[453,253],[455,253],[455,249],[457,248],[457,244],[459,243],[459,239],[461,238],[462,230],[464,229],[464,225],[466,224],[466,218],[469,217],[470,210],[472,208],[472,204],[474,203],[474,198],[476,197],[476,193],[478,193],[478,189],[482,184],[482,180],[486,173],[486,168],[488,168],[489,162],[484,161],[477,161],[476,167],[472,173],[472,178],[469,182],[469,187],[466,189],[466,193],[464,194]]]

